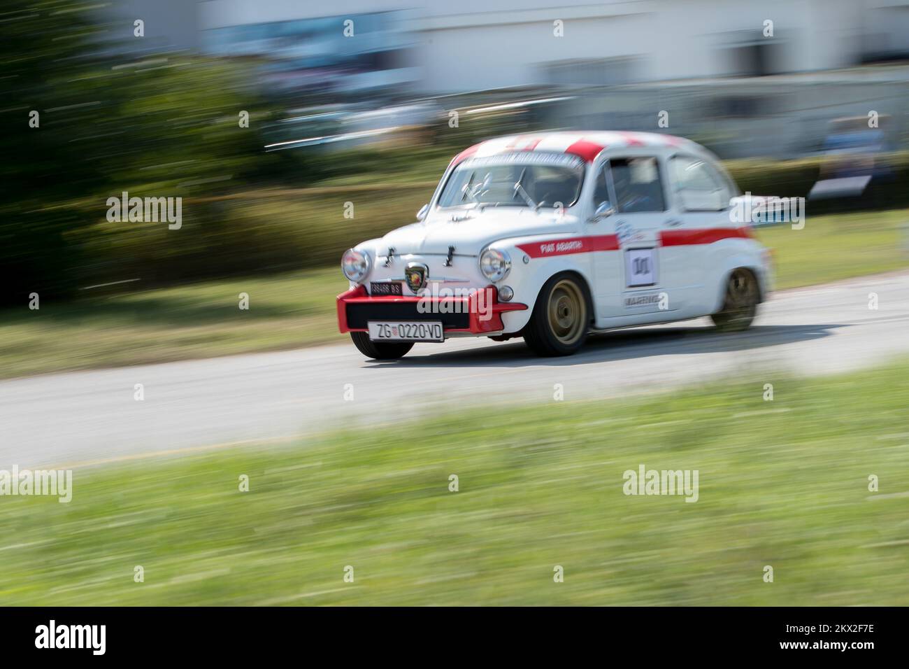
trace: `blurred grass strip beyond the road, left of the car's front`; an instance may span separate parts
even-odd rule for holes
[[[338,268],[139,290],[0,312],[0,376],[209,358],[341,340]],[[249,309],[239,309],[240,293]]]

